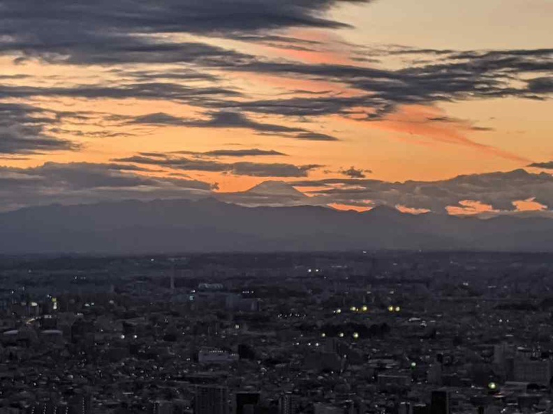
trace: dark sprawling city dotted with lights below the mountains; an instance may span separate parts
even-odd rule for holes
[[[4,256],[1,413],[549,413],[550,254]]]

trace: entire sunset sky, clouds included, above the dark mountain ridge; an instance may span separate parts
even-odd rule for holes
[[[0,210],[270,181],[271,205],[549,211],[552,16],[550,0],[0,0]]]

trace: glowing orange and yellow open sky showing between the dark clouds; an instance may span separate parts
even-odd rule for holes
[[[426,10],[425,13],[422,10]],[[177,34],[164,35],[173,41],[186,39],[240,52],[253,56],[257,62],[279,64],[282,68],[278,70],[237,70],[230,63],[228,67],[211,62],[152,63],[147,59],[133,64],[82,64],[31,56],[21,61],[15,59],[20,56],[16,52],[6,52],[0,54],[0,74],[3,75],[0,83],[10,88],[9,91],[17,88],[41,91],[18,90],[11,95],[8,91],[1,102],[40,107],[52,111],[50,117],[55,116],[54,112],[64,111],[87,116],[62,116],[55,125],[49,121],[43,126],[44,135],[73,142],[75,146],[71,150],[0,154],[1,164],[20,168],[36,167],[45,162],[101,164],[138,153],[205,153],[258,148],[283,155],[209,159],[227,164],[293,164],[300,168],[316,165],[305,169],[308,172],[303,178],[312,180],[344,178],[343,171],[353,166],[365,170],[363,175],[367,178],[376,180],[437,181],[459,174],[511,171],[531,162],[549,161],[553,158],[553,124],[550,121],[553,103],[549,95],[529,97],[496,91],[486,95],[482,90],[487,86],[481,84],[474,89],[451,92],[450,89],[457,87],[455,82],[460,84],[457,79],[445,79],[443,84],[448,87],[443,86],[441,90],[438,84],[430,83],[432,77],[455,72],[458,70],[455,65],[464,61],[427,49],[477,50],[483,54],[489,50],[543,48],[550,43],[550,36],[549,39],[544,37],[550,33],[550,21],[545,15],[551,11],[547,0],[530,0],[525,3],[524,10],[515,0],[485,3],[470,0],[463,2],[462,7],[438,0],[416,4],[388,0],[344,4],[327,10],[325,18],[349,24],[346,29],[290,26],[265,31],[275,38],[281,36],[294,41],[252,42],[225,36],[224,32],[217,36],[181,33],[182,38]],[[423,50],[411,54],[408,47]],[[391,53],[399,49],[402,52]],[[496,61],[492,59],[486,64],[492,67]],[[449,69],[432,72],[435,66],[445,62],[451,65]],[[285,64],[301,68],[288,70],[283,68]],[[476,64],[472,67],[477,67]],[[422,72],[422,68],[426,72]],[[212,78],[163,77],[163,74],[182,70]],[[378,75],[378,70],[387,71],[388,79]],[[411,70],[419,72],[413,75]],[[527,81],[551,75],[546,70],[516,72],[518,69],[514,67],[500,68],[497,73],[501,70],[513,70],[510,80],[506,81],[508,84],[494,85],[503,88],[502,91],[508,87],[523,89]],[[183,91],[219,88],[235,93],[205,92],[207,98],[202,98],[201,93],[191,93],[186,98],[131,93],[108,98],[80,95],[80,92],[50,92],[84,87],[126,89],[136,82],[136,72],[140,71],[156,74],[142,79],[142,84],[170,82],[182,87]],[[351,75],[347,75],[350,72]],[[489,72],[482,82],[492,84],[494,73]],[[344,103],[348,99],[354,103]],[[280,100],[286,101],[284,106],[278,111],[272,109],[271,105]],[[272,102],[260,105],[261,101]],[[344,106],[332,106],[338,105],[336,102]],[[308,109],[314,109],[311,106],[305,109],[302,105],[320,105],[321,109],[307,114]],[[381,109],[383,112],[377,116]],[[236,114],[247,118],[249,123],[216,127],[209,123],[216,112]],[[165,123],[135,121],[135,118],[151,114],[165,114],[172,120]],[[288,130],[270,130],[274,125]],[[201,155],[194,157],[206,159]],[[184,170],[168,164],[147,167],[151,171],[138,174],[161,177],[185,174],[191,179],[218,183],[221,192],[244,191],[267,179],[295,181],[302,178],[249,176],[236,174],[237,169],[230,172]],[[367,172],[369,170],[371,173]],[[532,199],[515,201],[519,210],[542,208]],[[364,209],[339,203],[335,206]],[[421,212],[411,206],[399,208]],[[473,210],[493,208],[476,200],[466,200],[462,206],[450,208],[450,213]]]

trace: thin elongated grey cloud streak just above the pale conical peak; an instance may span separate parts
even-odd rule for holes
[[[284,163],[219,162],[198,158],[174,157],[171,155],[158,155],[156,157],[135,155],[128,158],[118,158],[113,161],[155,165],[156,167],[178,169],[181,171],[207,171],[253,177],[307,177],[309,171],[322,167],[318,164],[294,165]]]

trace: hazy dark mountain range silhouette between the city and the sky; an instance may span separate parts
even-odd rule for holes
[[[42,206],[0,214],[0,253],[140,254],[309,250],[553,251],[545,217],[366,213],[323,206],[245,207],[199,201]]]

